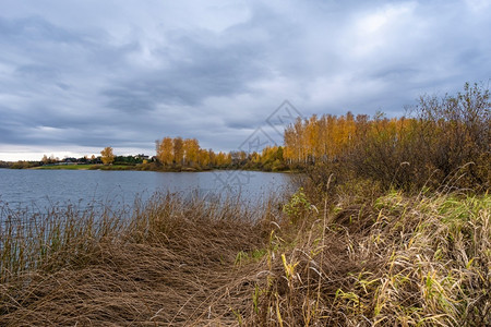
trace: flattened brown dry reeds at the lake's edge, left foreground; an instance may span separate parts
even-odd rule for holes
[[[253,213],[232,203],[156,196],[128,221],[108,211],[101,219],[73,210],[31,220],[9,214],[2,326],[235,323],[228,303],[248,296],[237,254],[264,245]]]

